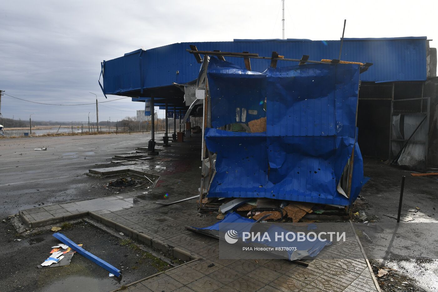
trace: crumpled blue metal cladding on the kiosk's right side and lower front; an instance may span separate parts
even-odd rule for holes
[[[226,80],[239,79],[243,72],[226,70],[215,68],[228,76],[223,83],[209,83],[211,92],[217,90],[215,86],[230,87]],[[336,186],[353,145],[352,201],[366,182],[355,127],[359,66],[305,64],[268,68],[263,75],[266,132],[205,131],[208,149],[218,153],[208,196],[349,205]],[[221,112],[216,121],[227,121],[223,118],[227,114]]]

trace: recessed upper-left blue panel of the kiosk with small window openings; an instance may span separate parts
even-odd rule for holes
[[[266,75],[214,57],[208,63],[212,127],[265,117]],[[213,90],[212,90],[213,89]]]

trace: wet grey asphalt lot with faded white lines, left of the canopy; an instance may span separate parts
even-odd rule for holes
[[[0,218],[22,209],[110,195],[95,188],[98,178],[85,173],[108,166],[115,154],[147,146],[149,139],[150,134],[141,133],[0,139]],[[34,150],[41,147],[47,150]]]

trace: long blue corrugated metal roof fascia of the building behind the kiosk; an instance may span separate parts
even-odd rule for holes
[[[373,63],[360,75],[362,81],[421,81],[426,80],[427,37],[402,37],[379,39],[344,39],[344,61]],[[258,53],[270,57],[277,51],[286,58],[300,59],[310,55],[310,60],[337,59],[339,40],[310,39],[235,39],[233,42],[174,43],[150,50],[135,50],[123,57],[104,61],[103,91],[106,94],[128,95],[130,91],[186,83],[198,76],[199,64],[188,53],[189,45],[198,50]],[[244,67],[242,58],[227,57]],[[251,59],[253,71],[265,71],[270,60]],[[277,67],[291,65],[279,61]],[[178,73],[177,73],[178,71]]]

